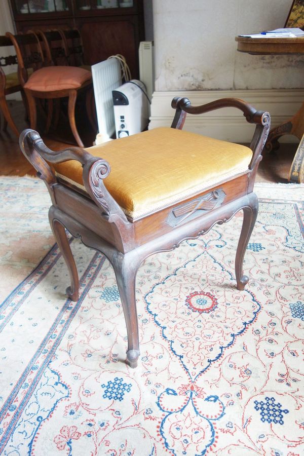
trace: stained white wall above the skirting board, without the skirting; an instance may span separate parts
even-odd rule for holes
[[[304,56],[253,56],[235,42],[283,27],[291,3],[153,0],[156,91],[304,87]]]

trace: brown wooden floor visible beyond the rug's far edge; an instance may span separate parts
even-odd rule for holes
[[[11,101],[10,109],[17,128],[22,131],[28,128],[24,120],[24,108],[21,101]],[[82,110],[82,112],[85,112]],[[93,145],[96,131],[86,121],[86,118],[77,117],[80,136],[86,147]],[[35,175],[35,170],[22,155],[18,138],[8,128],[7,132],[0,130],[0,175],[24,176]],[[80,127],[82,126],[82,128]],[[60,121],[60,128],[51,131],[48,135],[42,134],[42,138],[52,150],[61,150],[71,145],[76,145],[69,130],[65,118]],[[258,169],[256,182],[288,182],[288,173],[295,154],[297,144],[281,144],[276,154],[265,153]]]

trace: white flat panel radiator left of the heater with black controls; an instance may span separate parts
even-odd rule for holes
[[[97,144],[108,141],[115,132],[112,90],[122,85],[118,59],[112,58],[92,65],[92,78],[99,129]]]

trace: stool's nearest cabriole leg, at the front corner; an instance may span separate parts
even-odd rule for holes
[[[112,260],[112,265],[116,274],[127,326],[127,362],[130,367],[134,368],[137,366],[137,360],[140,355],[135,296],[135,281],[139,263],[136,263],[134,257],[128,257],[128,254],[118,253]]]

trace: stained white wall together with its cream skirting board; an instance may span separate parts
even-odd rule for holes
[[[173,96],[193,105],[237,97],[270,111],[272,127],[304,100],[304,55],[254,56],[237,51],[235,36],[284,27],[292,0],[153,0],[155,92],[149,128],[170,126]],[[237,109],[187,116],[185,129],[249,142],[252,126]],[[282,142],[296,142],[285,136]]]

